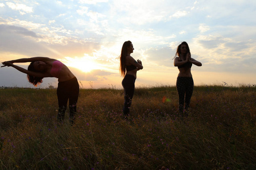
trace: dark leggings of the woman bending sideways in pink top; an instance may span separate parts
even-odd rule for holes
[[[67,110],[67,103],[69,100],[69,117],[73,122],[76,114],[76,103],[79,97],[79,83],[76,77],[65,82],[59,82],[57,88],[57,97],[59,102],[58,120],[64,120],[65,112]]]

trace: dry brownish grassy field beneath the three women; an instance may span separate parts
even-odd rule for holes
[[[0,169],[256,169],[255,86],[196,86],[188,117],[175,87],[82,89],[76,124],[56,90],[0,90]]]

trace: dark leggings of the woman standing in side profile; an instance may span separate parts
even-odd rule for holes
[[[135,77],[130,74],[126,74],[122,80],[123,90],[125,91],[125,103],[123,104],[123,114],[127,116],[130,112],[131,100],[135,90]]]

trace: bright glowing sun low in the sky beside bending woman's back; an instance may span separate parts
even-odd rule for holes
[[[67,59],[67,66],[75,67],[76,69],[79,69],[85,73],[88,73],[92,70],[100,69],[100,66],[98,65],[96,59],[90,56],[85,56],[82,58],[65,57],[65,59]]]

